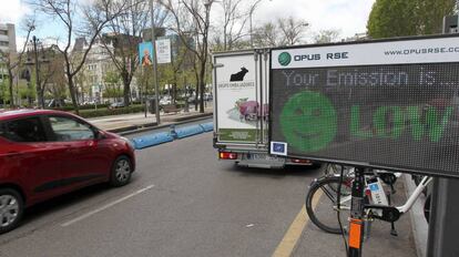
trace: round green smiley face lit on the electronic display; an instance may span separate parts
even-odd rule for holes
[[[335,138],[336,111],[332,102],[318,92],[297,93],[284,105],[280,130],[294,148],[302,152],[323,150]]]

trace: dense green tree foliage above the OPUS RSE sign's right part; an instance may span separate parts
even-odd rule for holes
[[[374,39],[435,34],[445,16],[452,14],[455,0],[376,0],[367,22]]]

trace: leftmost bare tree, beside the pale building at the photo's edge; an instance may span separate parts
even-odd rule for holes
[[[14,107],[14,94],[13,94],[13,79],[20,72],[19,68],[22,64],[22,56],[27,49],[27,43],[29,42],[30,33],[35,29],[35,22],[32,18],[27,18],[24,20],[24,30],[27,31],[26,41],[22,45],[22,49],[19,53],[16,52],[3,52],[0,50],[0,62],[4,63],[4,66],[8,71],[8,91],[10,94],[10,107]]]

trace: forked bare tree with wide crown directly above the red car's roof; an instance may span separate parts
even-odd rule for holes
[[[121,4],[115,4],[118,2],[121,2]],[[94,0],[92,3],[78,3],[74,0],[38,0],[31,4],[44,14],[57,19],[64,28],[63,49],[59,44],[54,47],[64,58],[64,72],[70,96],[75,113],[80,114],[74,76],[82,69],[98,35],[111,20],[122,13],[126,3],[123,0]],[[79,19],[81,17],[84,17],[84,19]],[[82,50],[76,61],[72,61],[71,45],[73,38],[76,35],[85,38],[88,45]]]

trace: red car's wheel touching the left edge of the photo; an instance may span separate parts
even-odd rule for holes
[[[23,210],[23,199],[17,191],[0,188],[0,234],[16,228],[21,220]]]

